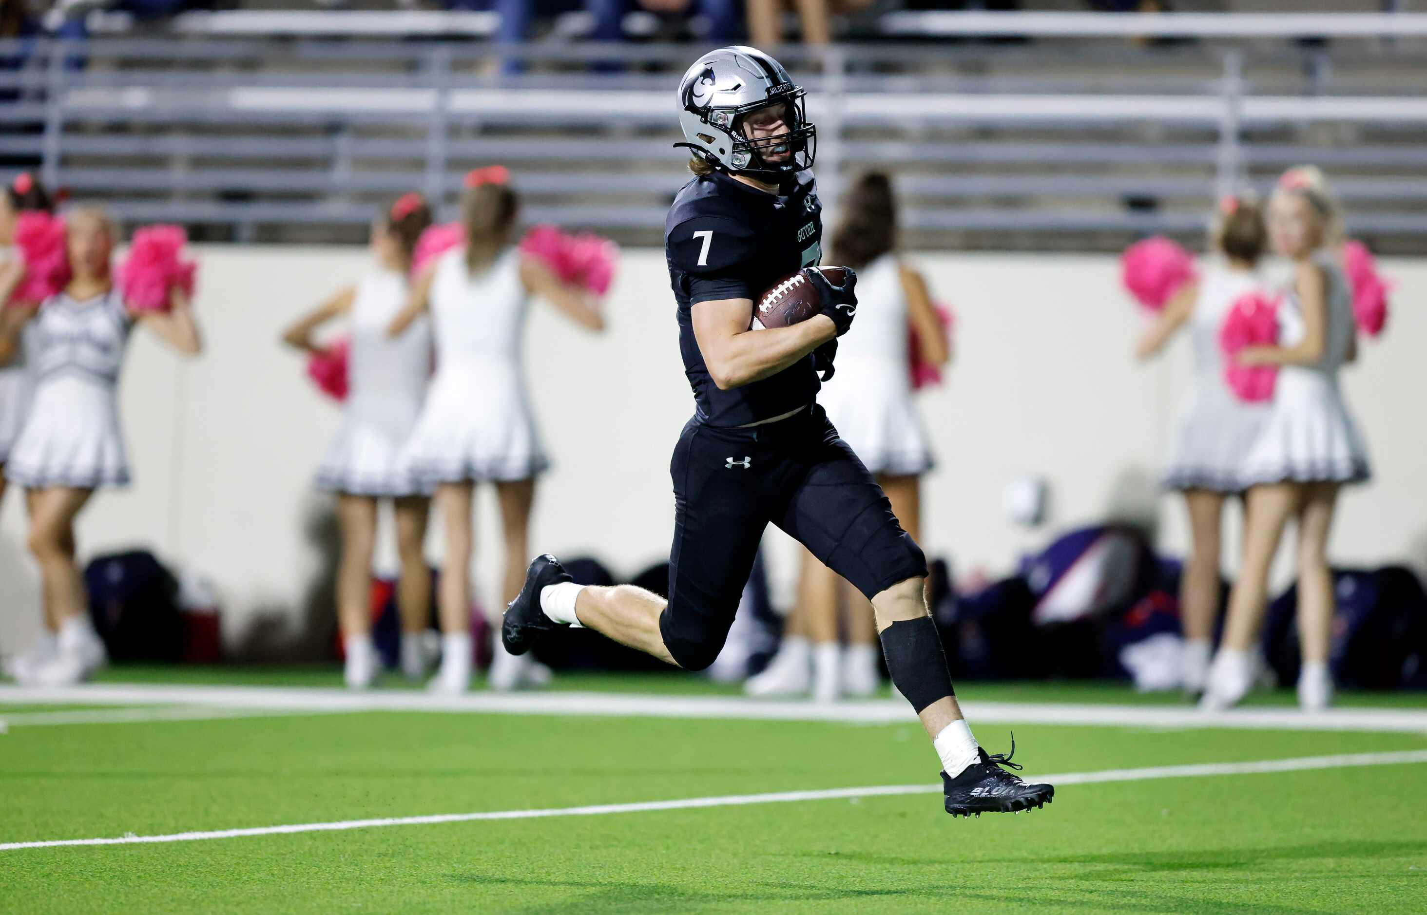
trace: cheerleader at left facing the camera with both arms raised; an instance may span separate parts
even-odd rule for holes
[[[6,464],[26,488],[30,551],[40,565],[47,615],[59,622],[54,657],[17,671],[21,682],[70,684],[104,662],[74,562],[74,518],[100,487],[128,484],[118,421],[118,374],[137,323],[186,355],[201,350],[188,297],[174,288],[168,311],[136,308],[110,275],[116,231],[108,217],[81,208],[66,217],[70,281],[29,311],[36,377],[30,414]],[[13,334],[0,340],[10,358]]]

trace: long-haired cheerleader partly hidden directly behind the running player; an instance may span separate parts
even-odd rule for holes
[[[950,358],[946,330],[926,280],[896,253],[896,201],[888,177],[862,176],[843,206],[831,254],[832,263],[858,270],[858,333],[839,340],[836,373],[818,403],[876,475],[898,521],[918,538],[920,478],[932,468],[932,453],[912,401],[908,327],[916,331],[922,358],[936,367]],[[839,604],[848,611],[846,648],[838,642]],[[806,551],[785,642],[769,668],[748,681],[748,692],[803,692],[809,669],[818,701],[872,695],[880,684],[870,604]]]

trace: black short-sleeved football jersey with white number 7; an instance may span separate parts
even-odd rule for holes
[[[664,223],[664,257],[678,303],[684,374],[698,417],[709,425],[746,425],[811,404],[819,388],[813,357],[776,375],[721,391],[694,338],[689,308],[721,298],[758,300],[778,280],[822,258],[822,204],[812,171],[779,194],[722,171],[696,177],[674,198]]]

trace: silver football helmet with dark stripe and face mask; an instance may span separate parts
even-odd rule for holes
[[[781,63],[735,44],[699,57],[679,80],[679,127],[685,143],[709,164],[765,180],[812,167],[818,130],[803,111],[803,89]],[[786,104],[788,133],[749,140],[743,118],[759,108]],[[783,156],[769,160],[768,156]]]

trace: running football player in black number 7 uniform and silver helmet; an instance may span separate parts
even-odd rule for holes
[[[701,671],[723,647],[763,528],[776,524],[872,601],[892,681],[942,759],[946,811],[1040,807],[1055,789],[1025,784],[1006,771],[1020,768],[1009,755],[990,757],[972,737],[928,612],[926,558],[816,401],[858,300],[852,271],[833,285],[802,270],[818,266],[822,241],[803,90],[768,54],[735,46],[689,67],[678,104],[695,177],[669,210],[665,257],[695,414],[671,462],[669,600],[577,585],[554,557],[537,557],[505,612],[507,648],[529,651],[557,625],[589,627]],[[818,313],[751,330],[753,301],[799,270]]]

